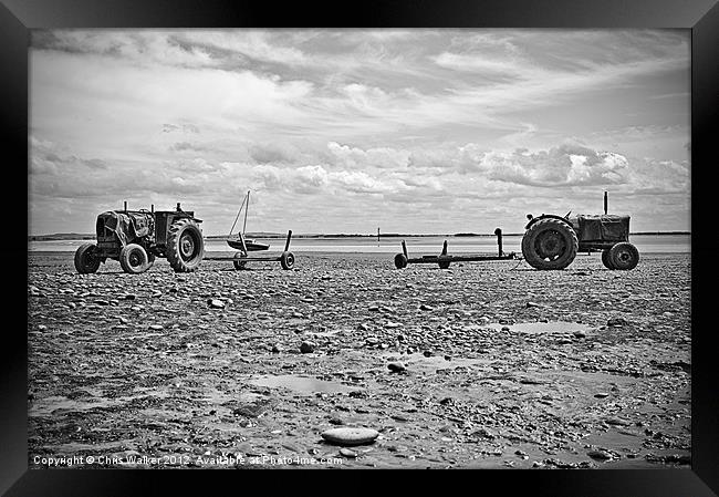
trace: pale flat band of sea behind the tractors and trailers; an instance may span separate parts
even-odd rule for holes
[[[256,238],[270,245],[270,252],[284,250],[284,238]],[[293,237],[290,245],[292,252],[355,252],[355,253],[397,253],[402,251],[402,241],[405,241],[410,257],[415,255],[440,253],[442,245],[447,241],[448,253],[493,253],[498,252],[494,236],[408,236],[408,237],[336,237],[336,238],[300,238]],[[74,252],[82,244],[92,240],[51,240],[29,241],[29,252]],[[634,244],[639,253],[691,253],[690,235],[631,235],[629,241]],[[521,235],[506,235],[502,237],[504,253],[521,253]],[[207,252],[235,252],[225,240],[205,240]]]

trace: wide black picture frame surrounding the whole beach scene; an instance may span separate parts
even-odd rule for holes
[[[719,389],[713,383],[715,257],[712,168],[717,167],[719,121],[719,4],[717,0],[415,0],[286,2],[248,0],[0,0],[1,143],[6,193],[6,240],[0,268],[7,292],[0,300],[4,327],[0,369],[0,491],[7,496],[169,494],[174,488],[210,490],[221,483],[249,489],[249,479],[265,491],[312,491],[325,486],[327,472],[290,473],[272,478],[257,470],[148,472],[132,469],[28,469],[27,431],[27,246],[17,235],[28,204],[28,48],[29,30],[54,28],[680,28],[691,30],[691,468],[590,470],[375,470],[356,485],[346,474],[340,485],[374,491],[376,476],[390,474],[385,491],[434,484],[456,491],[548,496],[702,497],[719,493]],[[25,167],[22,167],[22,164]],[[7,197],[6,197],[7,198]],[[25,227],[28,218],[25,219]],[[7,318],[10,317],[11,320]],[[304,470],[301,470],[304,472]],[[334,476],[337,472],[330,472]],[[429,476],[431,474],[431,476]],[[353,475],[356,476],[356,475]],[[335,478],[331,478],[335,479]],[[306,485],[302,482],[305,480]],[[241,487],[238,486],[241,484]],[[282,488],[280,485],[284,484]],[[490,490],[492,487],[499,490]],[[354,489],[351,488],[351,489]],[[342,491],[342,487],[326,487]]]

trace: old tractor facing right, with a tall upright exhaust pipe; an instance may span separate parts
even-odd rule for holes
[[[564,269],[572,263],[576,252],[602,252],[602,262],[608,269],[634,269],[639,262],[639,251],[629,244],[629,216],[606,214],[607,195],[604,193],[603,215],[575,215],[564,217],[542,214],[527,215],[522,255],[536,269]]]

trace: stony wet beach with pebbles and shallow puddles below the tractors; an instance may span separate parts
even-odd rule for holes
[[[30,251],[30,467],[689,468],[690,253],[294,253],[79,275]]]

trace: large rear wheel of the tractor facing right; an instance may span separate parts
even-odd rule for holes
[[[579,245],[569,222],[550,217],[534,222],[524,232],[522,255],[535,269],[564,269],[576,257]]]

